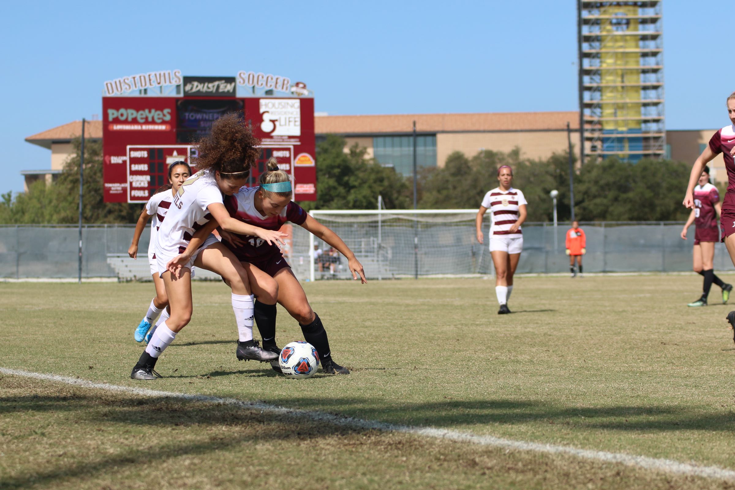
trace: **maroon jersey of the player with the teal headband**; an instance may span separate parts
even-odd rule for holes
[[[259,187],[243,187],[237,194],[229,195],[225,197],[225,207],[229,212],[230,216],[237,218],[243,223],[248,225],[259,226],[266,230],[278,231],[281,229],[284,223],[290,221],[295,225],[301,225],[306,221],[306,212],[297,203],[291,201],[283,209],[280,215],[277,216],[263,216],[257,209],[253,198],[255,192]],[[249,235],[237,235],[240,239],[243,239],[245,245],[235,248],[227,240],[222,242],[227,245],[227,248],[240,260],[255,259],[257,257],[266,256],[270,253],[280,253],[277,245],[268,245],[259,237],[251,237]]]

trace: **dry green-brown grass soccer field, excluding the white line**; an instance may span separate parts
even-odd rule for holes
[[[735,277],[724,276],[735,282]],[[151,284],[0,284],[0,367],[261,401],[393,425],[735,469],[735,345],[689,309],[698,275],[305,284],[349,376],[304,381],[238,363],[229,289],[133,381]],[[735,298],[734,298],[735,299]],[[734,300],[735,303],[735,300]],[[279,309],[279,344],[301,339]],[[735,488],[572,455],[334,425],[258,406],[0,375],[0,489]]]

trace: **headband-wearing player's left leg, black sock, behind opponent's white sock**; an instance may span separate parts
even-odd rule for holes
[[[276,344],[276,301],[278,300],[278,282],[270,277],[255,264],[240,262],[248,273],[250,290],[257,298],[253,306],[255,325],[260,332],[263,341],[263,350],[275,353],[278,356],[281,349]],[[276,372],[281,372],[278,359],[270,361],[270,367]]]

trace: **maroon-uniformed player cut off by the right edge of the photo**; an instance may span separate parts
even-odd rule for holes
[[[695,208],[695,184],[701,178],[705,165],[718,154],[723,154],[725,168],[728,170],[728,190],[725,192],[723,206],[720,209],[720,228],[723,232],[720,241],[725,242],[730,259],[735,264],[735,92],[728,96],[726,104],[731,124],[712,135],[709,145],[704,148],[702,154],[692,165],[692,173],[689,174],[689,184],[686,186],[684,195],[684,207]],[[728,314],[727,320],[730,328],[733,329],[733,341],[735,342],[735,311]]]

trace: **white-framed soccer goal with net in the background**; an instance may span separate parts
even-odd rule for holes
[[[476,239],[477,209],[312,211],[354,251],[368,278],[487,274],[487,245]],[[490,215],[485,215],[487,235]],[[309,278],[348,278],[347,260],[309,234]]]

